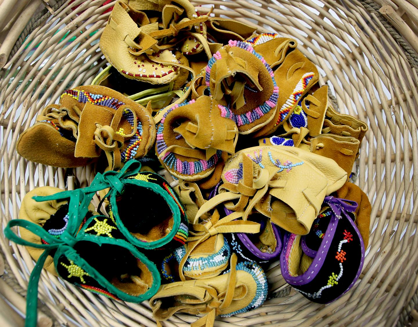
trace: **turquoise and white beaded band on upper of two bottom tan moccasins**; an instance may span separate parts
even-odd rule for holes
[[[174,251],[174,256],[177,262],[186,255],[186,248],[179,247]],[[217,253],[210,254],[207,257],[188,258],[184,264],[183,271],[191,272],[193,270],[202,271],[204,269],[221,267],[227,264],[229,257],[231,256],[231,249],[226,239],[224,239],[224,245],[219,249]]]

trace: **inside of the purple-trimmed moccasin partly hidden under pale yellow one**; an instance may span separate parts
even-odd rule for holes
[[[255,234],[247,233],[246,235],[263,253],[274,253],[277,247],[277,239],[271,226],[270,219],[263,214],[251,214],[248,220],[255,221],[260,224],[260,232]]]

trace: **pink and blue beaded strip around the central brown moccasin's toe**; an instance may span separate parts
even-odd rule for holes
[[[176,104],[164,113],[163,118],[161,118],[161,121],[157,127],[156,146],[157,146],[158,154],[162,153],[167,148],[166,141],[164,141],[164,122],[166,121],[167,115],[176,108],[179,108],[181,106],[185,106],[186,104],[191,104],[194,102],[195,100],[191,100],[189,102],[185,101],[183,103]],[[166,167],[168,167],[169,169],[178,171],[180,174],[184,174],[184,175],[194,175],[194,174],[199,174],[202,171],[212,168],[214,165],[216,165],[221,155],[222,155],[222,151],[217,150],[216,153],[212,157],[210,157],[209,160],[207,161],[203,159],[200,159],[197,161],[181,161],[180,159],[176,158],[176,155],[173,152],[168,151],[163,156],[162,160],[164,164],[166,165]]]

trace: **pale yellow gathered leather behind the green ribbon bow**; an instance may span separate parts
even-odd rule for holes
[[[67,201],[41,201],[37,202],[32,199],[33,196],[48,196],[62,192],[61,189],[52,186],[41,186],[32,191],[29,191],[23,198],[22,204],[19,211],[19,219],[24,219],[32,223],[43,226],[45,222],[51,218],[51,215],[55,214],[58,209],[67,203]],[[90,204],[89,210],[94,213],[94,207]],[[64,225],[64,221],[63,221]],[[41,238],[33,234],[31,231],[28,231],[25,228],[19,228],[20,236],[22,239],[29,241],[31,243],[42,244]],[[44,249],[37,249],[33,247],[26,247],[28,249],[31,257],[37,261],[41,254],[43,254]],[[54,259],[51,256],[48,256],[45,260],[43,267],[51,272],[54,275],[57,275],[54,267]]]

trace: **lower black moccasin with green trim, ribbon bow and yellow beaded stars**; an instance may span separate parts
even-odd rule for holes
[[[155,264],[138,252],[132,244],[122,239],[122,234],[111,219],[92,216],[80,229],[83,217],[88,212],[87,204],[92,194],[84,195],[83,191],[78,189],[36,197],[35,200],[56,200],[57,203],[61,203],[63,199],[68,198],[68,213],[64,216],[67,217],[67,221],[65,228],[61,228],[62,233],[59,237],[56,237],[55,229],[47,231],[46,224],[41,227],[25,219],[11,220],[5,228],[5,235],[10,240],[44,250],[29,280],[27,326],[36,326],[37,285],[42,266],[49,255],[53,255],[54,267],[63,279],[112,299],[142,302],[153,296],[161,284]],[[42,242],[35,243],[20,238],[13,232],[13,226],[19,226],[20,230],[27,229]]]

